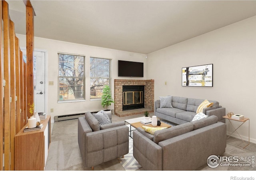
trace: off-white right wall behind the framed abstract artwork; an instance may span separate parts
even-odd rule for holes
[[[203,64],[213,64],[213,87],[182,86],[182,68]],[[255,68],[256,16],[148,54],[147,78],[155,80],[155,100],[166,95],[217,100],[226,114],[250,118],[250,140],[256,142]],[[248,127],[246,122],[238,129],[245,140]]]

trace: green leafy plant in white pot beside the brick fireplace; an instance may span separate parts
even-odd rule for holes
[[[112,98],[110,87],[108,85],[105,85],[102,91],[101,105],[103,106],[103,108],[106,106],[106,110],[104,111],[106,111],[110,119],[111,119],[111,110],[108,109],[108,106],[110,106],[111,103],[115,103],[115,102]]]

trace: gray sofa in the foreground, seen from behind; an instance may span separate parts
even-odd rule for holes
[[[226,148],[226,124],[217,116],[187,122],[154,135],[133,132],[133,156],[143,170],[196,170]]]

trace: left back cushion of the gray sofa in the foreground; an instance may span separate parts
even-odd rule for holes
[[[163,129],[160,131],[156,131],[154,134],[154,142],[158,144],[158,142],[173,138],[175,136],[179,136],[181,134],[187,133],[192,131],[194,128],[194,125],[190,122],[187,122],[185,124],[181,124],[178,126],[172,126],[168,129]]]

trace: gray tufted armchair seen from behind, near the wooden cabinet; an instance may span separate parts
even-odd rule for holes
[[[84,166],[93,170],[98,164],[128,154],[128,131],[125,122],[99,125],[90,112],[78,118],[78,145]]]

